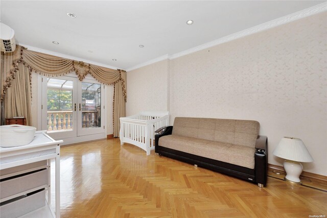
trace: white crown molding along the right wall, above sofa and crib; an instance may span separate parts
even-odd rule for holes
[[[137,64],[136,66],[127,69],[127,71],[135,70],[135,69],[138,69],[138,68],[141,68],[141,67],[145,67],[145,66],[147,66],[149,64],[164,60],[164,59],[162,59],[163,57],[168,57],[169,60],[172,60],[172,59],[184,56],[184,55],[192,54],[194,52],[201,51],[203,49],[211,48],[211,47],[220,45],[220,44],[228,42],[228,41],[232,41],[232,40],[235,40],[235,39],[238,39],[238,38],[242,38],[242,37],[254,34],[254,33],[262,32],[262,31],[265,31],[265,30],[268,30],[268,29],[271,29],[271,28],[274,28],[274,27],[277,27],[277,26],[280,26],[280,25],[290,23],[290,22],[292,22],[294,20],[305,18],[305,17],[311,16],[311,15],[314,15],[314,14],[317,14],[317,13],[324,12],[324,11],[327,11],[327,3],[326,2],[322,3],[322,4],[319,4],[319,5],[316,5],[316,6],[313,6],[313,7],[310,7],[310,8],[307,8],[307,9],[303,9],[301,11],[298,11],[298,12],[295,12],[295,13],[292,13],[292,14],[289,14],[289,15],[286,15],[284,17],[279,17],[277,19],[268,21],[268,22],[266,22],[264,24],[260,24],[258,26],[248,28],[246,30],[242,30],[240,32],[233,33],[231,35],[216,39],[214,41],[204,43],[204,44],[202,44],[200,46],[197,46],[197,47],[194,47],[194,48],[182,51],[182,52],[178,52],[178,53],[175,53],[175,54],[172,54],[172,55],[164,55],[164,56],[161,56],[159,58],[155,58],[155,59],[152,59],[150,61]]]

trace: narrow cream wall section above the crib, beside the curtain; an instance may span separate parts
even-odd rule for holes
[[[168,60],[127,72],[126,116],[167,111]]]

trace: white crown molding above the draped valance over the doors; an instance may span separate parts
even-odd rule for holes
[[[96,62],[96,61],[87,60],[87,59],[83,59],[83,58],[79,58],[79,57],[74,57],[74,56],[71,56],[71,55],[61,54],[61,53],[57,53],[57,52],[53,52],[53,51],[49,51],[49,50],[45,50],[45,49],[40,49],[40,48],[37,48],[37,47],[24,45],[22,43],[18,43],[17,45],[18,46],[24,46],[28,50],[31,50],[31,51],[34,51],[34,52],[40,52],[40,53],[53,55],[53,56],[57,56],[57,57],[62,57],[62,58],[67,58],[67,59],[72,59],[72,60],[77,60],[77,61],[83,61],[84,63],[90,63],[90,64],[94,64],[94,65],[104,67],[104,68],[119,69],[117,67],[110,66],[110,65],[107,65],[107,64],[103,64],[103,63],[99,63],[99,62]],[[124,69],[121,69],[121,70],[124,70]]]

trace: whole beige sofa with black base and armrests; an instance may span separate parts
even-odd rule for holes
[[[158,129],[155,152],[266,185],[267,137],[253,120],[176,117]]]

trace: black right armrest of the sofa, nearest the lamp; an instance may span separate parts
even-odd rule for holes
[[[266,185],[267,184],[267,170],[268,170],[268,139],[267,136],[258,136],[255,142],[255,182]]]

